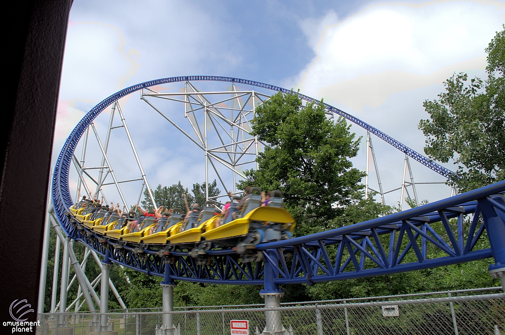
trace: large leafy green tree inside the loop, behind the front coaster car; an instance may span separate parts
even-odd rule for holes
[[[320,105],[302,106],[297,94],[273,95],[252,120],[252,134],[268,145],[258,157],[259,168],[246,171],[239,187],[281,190],[298,233],[328,228],[363,188],[364,173],[349,160],[360,138],[349,128],[343,118],[329,120]]]

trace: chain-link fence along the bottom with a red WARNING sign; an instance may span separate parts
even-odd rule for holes
[[[279,308],[211,306],[178,308],[170,313],[129,310],[108,313],[107,325],[102,326],[98,313],[46,313],[39,314],[37,335],[226,335],[230,334],[230,320],[248,320],[251,335],[495,335],[505,331],[505,294],[462,293],[465,291],[445,292],[445,297],[440,297],[441,293],[421,294],[427,296],[423,299],[404,295],[308,302]],[[369,301],[361,302],[366,299]],[[272,311],[280,315],[286,331],[262,332],[265,312]]]

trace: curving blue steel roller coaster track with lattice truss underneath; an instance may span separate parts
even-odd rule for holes
[[[279,284],[307,283],[414,271],[494,257],[489,269],[505,267],[505,181],[411,210],[290,240],[262,244],[262,262],[240,263],[231,249],[208,252],[209,264],[198,265],[187,252],[164,254],[136,246],[115,249],[103,237],[72,222],[69,172],[75,148],[88,125],[108,106],[149,86],[183,81],[225,81],[263,87],[286,94],[291,90],[251,80],[217,76],[183,76],[153,80],[125,88],[91,109],[77,124],[58,157],[53,176],[53,206],[65,234],[110,261],[165,282]],[[320,101],[299,94],[314,104]],[[335,107],[330,112],[367,129],[401,152],[448,179],[458,176],[400,142]],[[487,238],[486,238],[487,236]],[[489,243],[487,243],[488,240]],[[484,248],[488,246],[488,248]],[[490,247],[489,247],[490,246]],[[433,256],[435,255],[435,256]]]

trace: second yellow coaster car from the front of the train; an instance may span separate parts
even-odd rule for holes
[[[191,212],[187,220],[177,223],[169,229],[170,235],[167,237],[167,242],[180,247],[181,245],[200,243],[203,227],[215,216],[215,211],[216,209],[208,203],[204,210]]]

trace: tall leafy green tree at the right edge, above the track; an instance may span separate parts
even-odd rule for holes
[[[427,137],[425,153],[442,163],[453,160],[462,191],[505,179],[505,30],[486,53],[488,79],[453,75],[438,100],[424,102],[430,119],[419,123]]]

